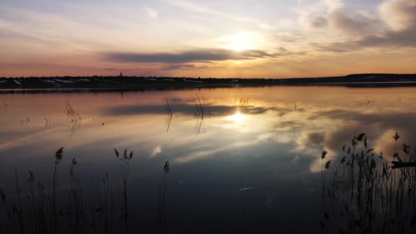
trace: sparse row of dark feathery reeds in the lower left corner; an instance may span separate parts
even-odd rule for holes
[[[37,181],[34,172],[29,170],[29,192],[22,193],[15,168],[16,196],[6,199],[4,191],[0,189],[0,233],[120,233],[123,229],[127,233],[129,164],[133,151],[127,153],[126,149],[121,155],[115,152],[122,189],[110,187],[106,173],[105,177],[89,187],[92,193],[88,194],[88,199],[83,197],[87,188],[81,187],[75,158],[70,160],[68,188],[60,186],[60,179],[65,175],[61,173],[63,147],[55,152],[51,187]],[[26,196],[27,200],[23,199]]]

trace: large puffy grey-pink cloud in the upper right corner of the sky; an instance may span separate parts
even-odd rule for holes
[[[365,48],[416,47],[416,1],[386,0],[378,15],[351,14],[335,8],[328,15],[333,29],[353,38],[312,44],[322,51],[350,52]]]

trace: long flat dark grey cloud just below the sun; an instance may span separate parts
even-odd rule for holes
[[[196,49],[177,53],[105,53],[112,62],[162,62],[187,63],[224,60],[254,60],[265,57],[276,57],[261,50],[232,51],[227,49]]]

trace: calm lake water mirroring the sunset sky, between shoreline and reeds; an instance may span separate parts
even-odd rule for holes
[[[80,122],[70,122],[67,102]],[[376,152],[393,155],[396,131],[414,145],[415,120],[416,88],[0,94],[0,187],[15,198],[15,167],[23,194],[29,170],[51,186],[60,147],[60,190],[74,157],[86,191],[106,173],[116,187],[114,148],[127,148],[131,231],[161,232],[159,181],[170,161],[164,232],[333,233],[320,226],[322,151],[335,159],[365,132]]]

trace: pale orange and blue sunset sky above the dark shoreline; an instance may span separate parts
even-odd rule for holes
[[[0,0],[0,77],[416,73],[416,0]]]

